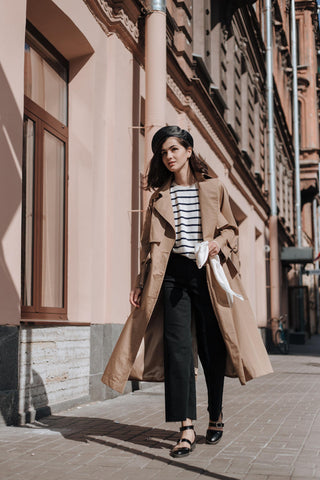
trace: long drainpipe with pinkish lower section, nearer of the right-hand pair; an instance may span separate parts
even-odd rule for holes
[[[270,172],[270,299],[271,318],[280,316],[280,282],[279,282],[279,243],[278,243],[278,211],[276,196],[275,148],[274,148],[274,114],[273,114],[273,36],[272,36],[272,1],[266,0],[266,27],[267,27],[267,107],[268,107],[268,147]],[[272,325],[275,330],[275,325]]]

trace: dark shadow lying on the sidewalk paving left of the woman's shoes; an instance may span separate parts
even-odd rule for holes
[[[172,430],[164,430],[159,428],[150,428],[138,425],[129,425],[118,423],[113,420],[94,417],[71,417],[51,415],[44,418],[41,422],[36,422],[33,427],[25,426],[21,428],[38,428],[54,432],[59,432],[68,439],[83,443],[93,442],[104,445],[107,449],[113,448],[121,450],[132,455],[139,455],[150,460],[156,460],[165,464],[170,464],[177,468],[194,472],[204,477],[214,478],[216,480],[238,480],[235,477],[210,472],[190,464],[183,463],[183,460],[177,461],[169,456],[169,450],[178,439],[178,433]],[[103,439],[101,437],[108,437]],[[97,438],[99,437],[99,438]],[[110,437],[120,442],[133,443],[136,446],[144,447],[144,450],[127,446],[124,443],[112,442]],[[197,445],[204,444],[203,436],[197,436]],[[166,456],[160,456],[153,452],[148,452],[145,447],[150,449],[166,449]],[[208,455],[210,455],[210,446],[208,446]],[[192,457],[188,457],[190,459]]]

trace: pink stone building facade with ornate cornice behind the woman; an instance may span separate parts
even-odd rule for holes
[[[196,153],[228,188],[243,282],[265,335],[264,5],[237,10],[226,31],[217,3],[167,0],[165,121],[190,131]],[[295,232],[291,73],[287,4],[276,1],[274,9],[282,246],[294,243]],[[138,271],[150,14],[140,0],[22,0],[1,16],[0,409],[7,423],[114,395],[100,378]],[[314,95],[311,83],[306,91]],[[309,142],[309,133],[303,148],[314,175],[318,137]],[[281,265],[279,278],[287,313]],[[137,387],[128,383],[127,391]]]

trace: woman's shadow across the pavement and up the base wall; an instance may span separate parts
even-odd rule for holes
[[[35,422],[21,428],[32,428],[58,432],[65,439],[81,442],[96,443],[106,447],[108,454],[121,451],[131,455],[138,455],[150,460],[201,474],[204,477],[217,480],[237,480],[219,473],[210,472],[197,465],[184,463],[183,460],[174,460],[169,456],[169,450],[179,438],[179,433],[163,428],[120,423],[102,417],[80,417],[72,415],[50,415],[48,396],[41,376],[33,369],[32,384],[30,386],[30,403],[35,410]],[[33,396],[36,387],[37,396]],[[27,407],[28,405],[26,405]],[[44,416],[44,415],[47,416]],[[204,444],[203,436],[197,436],[197,445]],[[212,447],[208,447],[208,456],[212,454]],[[160,451],[164,451],[164,455]],[[159,452],[159,453],[158,453]],[[192,460],[192,456],[188,459]],[[195,457],[196,460],[196,457]],[[196,463],[196,462],[195,462]]]

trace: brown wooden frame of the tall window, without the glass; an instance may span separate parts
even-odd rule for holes
[[[28,31],[35,39],[41,42],[46,50],[54,55],[59,62],[61,62],[61,55],[57,55],[48,41],[43,39],[42,35],[30,25],[27,25]],[[27,33],[27,32],[26,32]],[[29,42],[29,37],[26,34],[26,42],[32,48],[32,41]],[[39,48],[36,48],[39,53]],[[41,54],[41,52],[40,52]],[[67,68],[68,62],[63,59],[63,66]],[[25,219],[24,210],[22,210],[22,263],[21,263],[21,319],[32,320],[67,320],[67,278],[68,278],[68,79],[67,84],[67,125],[64,125],[57,118],[53,117],[49,112],[36,104],[26,95],[24,96],[24,121],[30,118],[34,122],[34,167],[33,167],[33,244],[32,244],[32,305],[23,305],[24,300],[24,259],[25,259]],[[44,154],[44,134],[45,131],[55,136],[64,144],[64,219],[63,219],[63,307],[44,307],[41,306],[42,296],[42,241],[43,241],[43,154]],[[25,180],[23,179],[23,182]],[[24,202],[24,198],[23,198]]]

